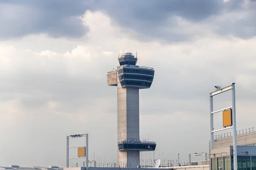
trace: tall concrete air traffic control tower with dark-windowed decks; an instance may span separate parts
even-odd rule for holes
[[[139,90],[150,88],[154,69],[136,65],[130,52],[119,57],[116,71],[107,74],[108,85],[117,86],[118,167],[140,166],[140,151],[154,151],[155,142],[140,141]]]

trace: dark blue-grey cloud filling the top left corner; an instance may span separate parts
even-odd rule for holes
[[[88,1],[5,0],[0,2],[0,38],[48,34],[51,37],[81,37],[88,28],[78,18]]]

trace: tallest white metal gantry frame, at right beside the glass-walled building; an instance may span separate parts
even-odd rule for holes
[[[210,93],[210,122],[211,122],[211,140],[210,140],[210,145],[211,145],[211,149],[213,148],[213,133],[214,132],[218,132],[221,130],[227,130],[232,128],[233,129],[233,163],[234,163],[234,170],[237,170],[237,150],[236,150],[236,93],[235,93],[235,83],[230,83],[229,86],[225,87],[225,88],[221,88],[220,86],[215,86],[216,91],[213,91]],[[223,108],[220,109],[218,111],[213,111],[213,96],[217,95],[217,94],[221,94],[225,91],[232,91],[232,106],[228,107],[228,108]],[[228,109],[231,109],[231,114],[232,114],[232,123],[231,126],[229,127],[224,127],[218,130],[214,130],[213,127],[213,114],[214,113],[218,113],[221,111],[226,111]],[[230,160],[231,161],[231,160]]]

